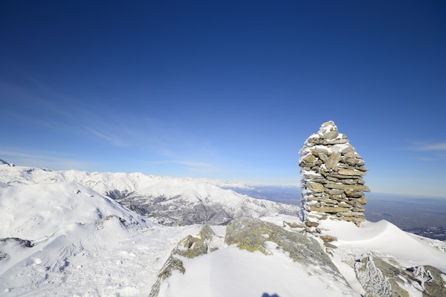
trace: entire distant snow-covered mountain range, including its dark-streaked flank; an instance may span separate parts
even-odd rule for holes
[[[297,216],[300,212],[296,205],[254,199],[218,187],[218,181],[204,179],[155,177],[142,173],[51,171],[0,165],[0,182],[10,185],[77,182],[115,199],[138,214],[171,226],[227,224],[237,217]]]

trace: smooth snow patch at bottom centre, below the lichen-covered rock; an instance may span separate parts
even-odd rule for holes
[[[182,259],[178,271],[162,283],[160,296],[358,296],[343,283],[318,276],[294,262],[271,243],[265,256],[237,246],[226,246],[194,259]]]

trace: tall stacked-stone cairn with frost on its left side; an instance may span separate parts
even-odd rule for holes
[[[338,132],[333,121],[321,125],[300,150],[302,211],[306,226],[318,226],[321,219],[338,219],[357,226],[365,221],[363,175],[368,170],[363,158]]]

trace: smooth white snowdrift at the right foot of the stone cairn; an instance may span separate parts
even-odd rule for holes
[[[442,278],[446,281],[445,241],[410,234],[385,220],[366,221],[359,228],[348,222],[327,220],[321,222],[320,229],[323,236],[335,236],[338,239],[334,243],[337,248],[331,251],[333,263],[357,291],[362,292],[363,289],[355,271],[348,264],[358,261],[361,255],[370,251],[385,261],[398,263],[405,269],[414,266],[434,266],[445,273]],[[411,296],[421,296],[420,292],[413,288],[412,291]]]

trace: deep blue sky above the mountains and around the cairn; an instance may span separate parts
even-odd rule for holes
[[[333,120],[373,192],[446,197],[445,1],[4,1],[0,158],[299,183]]]

